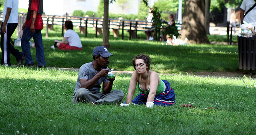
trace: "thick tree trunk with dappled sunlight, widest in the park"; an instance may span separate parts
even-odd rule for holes
[[[189,43],[210,43],[205,31],[205,0],[185,0],[181,39]]]

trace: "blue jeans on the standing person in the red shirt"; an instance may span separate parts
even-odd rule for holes
[[[21,38],[21,48],[23,53],[26,53],[25,63],[26,64],[34,63],[34,60],[31,56],[30,43],[29,43],[32,37],[35,41],[36,61],[38,62],[38,66],[46,66],[41,29],[35,29],[35,32],[33,33],[30,31],[30,28],[27,26],[24,28],[23,35]]]

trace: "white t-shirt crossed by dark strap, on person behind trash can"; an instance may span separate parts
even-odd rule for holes
[[[254,0],[243,0],[240,8],[244,10],[244,14],[255,4]],[[244,17],[244,21],[247,23],[256,22],[256,7],[254,7],[246,16]]]

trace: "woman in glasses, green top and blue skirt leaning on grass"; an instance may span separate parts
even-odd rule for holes
[[[154,105],[170,106],[175,104],[175,94],[167,80],[161,80],[159,75],[150,69],[150,57],[148,55],[137,55],[132,59],[135,71],[132,73],[126,105],[146,104],[147,107]],[[136,86],[140,94],[132,100]]]

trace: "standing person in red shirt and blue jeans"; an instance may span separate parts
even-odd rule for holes
[[[41,30],[43,29],[43,0],[29,0],[28,15],[26,22],[22,26],[23,36],[21,38],[22,51],[26,53],[25,66],[33,66],[29,41],[33,37],[36,45],[36,67],[45,67],[44,45]]]

